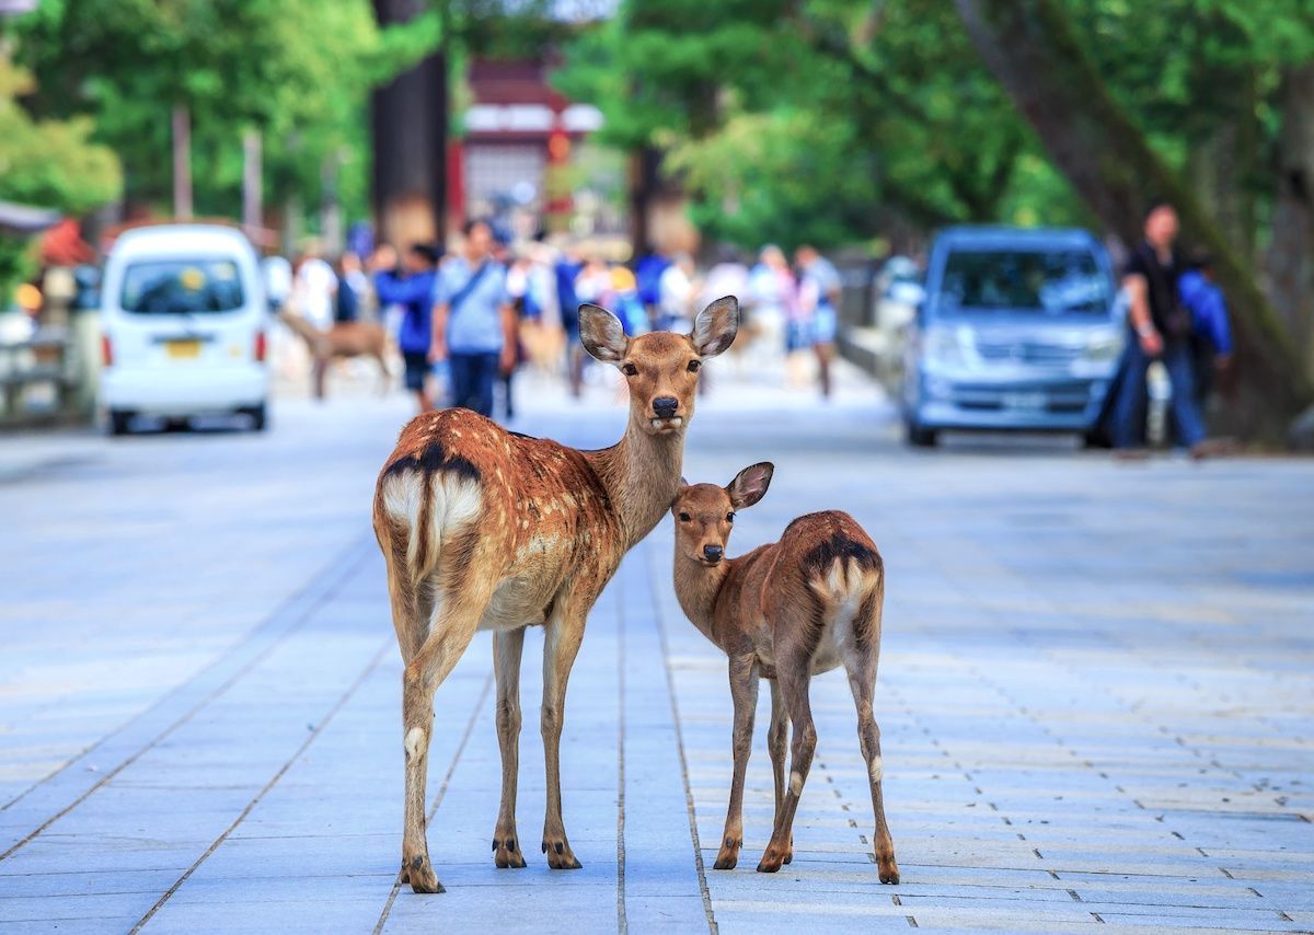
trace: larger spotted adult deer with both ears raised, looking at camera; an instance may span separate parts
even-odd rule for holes
[[[629,387],[629,423],[611,448],[581,452],[514,435],[468,410],[426,412],[402,429],[378,475],[374,532],[406,663],[401,872],[417,893],[443,892],[424,837],[434,692],[480,629],[494,630],[502,749],[494,863],[524,867],[515,830],[520,653],[524,628],[541,625],[543,851],[549,867],[578,869],[561,818],[566,680],[598,594],[675,496],[698,370],[731,345],[737,327],[733,297],[707,306],[689,336],[629,339],[606,309],[581,306],[581,341],[618,366]]]

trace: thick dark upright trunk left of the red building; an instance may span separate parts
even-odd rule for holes
[[[418,16],[419,0],[374,0],[380,26]],[[447,42],[444,29],[443,42]],[[398,247],[447,232],[447,56],[403,71],[373,93],[374,227]]]

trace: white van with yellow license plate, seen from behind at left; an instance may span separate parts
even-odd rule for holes
[[[100,394],[114,435],[134,415],[217,412],[265,424],[268,303],[255,250],[215,225],[122,234],[101,285]]]

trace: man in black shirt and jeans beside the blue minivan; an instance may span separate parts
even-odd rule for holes
[[[1127,324],[1125,373],[1114,411],[1113,445],[1120,449],[1141,444],[1144,410],[1146,370],[1162,360],[1172,382],[1172,415],[1179,441],[1192,453],[1201,450],[1205,425],[1196,410],[1194,374],[1190,356],[1190,313],[1177,301],[1181,272],[1173,253],[1177,239],[1177,213],[1172,205],[1156,202],[1146,211],[1144,240],[1127,260],[1122,288],[1131,299]]]

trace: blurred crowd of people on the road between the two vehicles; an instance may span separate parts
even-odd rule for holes
[[[791,383],[816,374],[829,395],[840,276],[805,246],[792,267],[767,246],[753,267],[727,250],[700,273],[689,253],[650,252],[624,265],[589,244],[540,238],[512,246],[491,222],[472,219],[447,253],[426,243],[403,251],[380,244],[330,264],[306,251],[289,305],[321,330],[363,315],[385,322],[422,411],[464,406],[491,418],[501,399],[511,418],[511,383],[524,362],[562,374],[573,395],[582,393],[589,359],[579,344],[581,303],[611,310],[627,334],[640,335],[689,331],[698,310],[721,295],[741,299],[744,360],[784,356]]]

